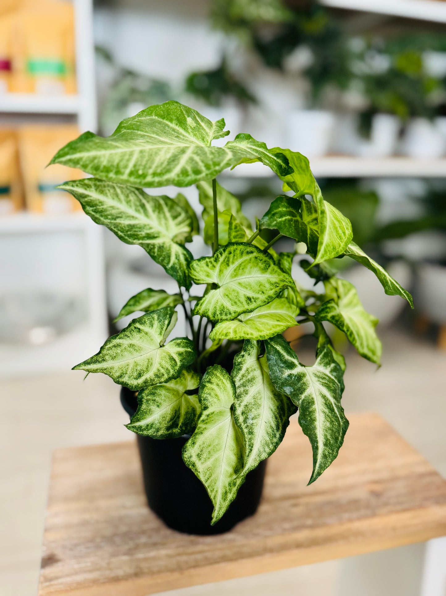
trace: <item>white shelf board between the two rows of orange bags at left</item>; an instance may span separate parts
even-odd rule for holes
[[[17,114],[78,114],[77,95],[36,95],[5,93],[0,95],[0,113]]]

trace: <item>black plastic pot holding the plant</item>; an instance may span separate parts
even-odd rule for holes
[[[121,389],[121,403],[128,415],[137,408],[134,392]],[[181,457],[189,436],[152,439],[137,434],[143,468],[144,488],[150,509],[163,522],[187,534],[221,534],[256,513],[262,496],[266,460],[250,472],[221,520],[211,526],[213,505],[205,487]]]

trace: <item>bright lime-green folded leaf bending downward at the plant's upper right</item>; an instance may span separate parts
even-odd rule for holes
[[[288,176],[280,176],[285,183],[284,190],[293,190],[296,194],[310,194],[315,201],[319,222],[318,252],[315,264],[321,263],[323,260],[334,259],[342,254],[353,238],[350,221],[335,207],[323,200],[321,189],[310,170],[307,158],[301,153],[280,147],[275,147],[271,151],[284,154],[288,158],[290,166],[293,167],[293,173]]]

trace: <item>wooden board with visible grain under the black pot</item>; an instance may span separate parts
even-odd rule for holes
[[[146,596],[445,535],[446,482],[377,414],[349,418],[308,487],[293,419],[257,514],[219,536],[174,532],[147,508],[136,442],[56,451],[39,596]]]

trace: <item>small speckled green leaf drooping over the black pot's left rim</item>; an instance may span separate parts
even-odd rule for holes
[[[196,389],[199,384],[200,375],[186,368],[168,383],[143,389],[138,393],[138,409],[130,424],[125,426],[155,439],[193,433],[201,406],[197,395],[187,395],[186,392]]]

